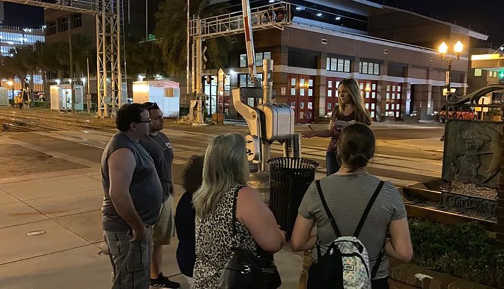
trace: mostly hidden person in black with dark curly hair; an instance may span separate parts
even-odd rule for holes
[[[200,188],[203,180],[203,162],[204,157],[201,155],[193,155],[189,159],[182,175],[185,193],[178,201],[175,212],[178,268],[191,288],[193,288],[193,269],[196,263],[196,211],[192,201],[194,192]]]

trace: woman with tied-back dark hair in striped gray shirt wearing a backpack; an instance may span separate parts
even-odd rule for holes
[[[313,182],[301,201],[290,242],[294,251],[308,251],[317,244],[308,271],[308,289],[327,287],[327,284],[319,283],[325,273],[324,268],[318,267],[318,260],[337,237],[354,235],[368,204],[370,210],[356,237],[367,250],[369,272],[374,271],[374,275],[371,274],[372,289],[389,288],[387,256],[408,262],[413,255],[401,195],[394,185],[382,182],[366,170],[374,148],[374,134],[368,126],[352,124],[344,128],[337,142],[341,168],[336,174],[317,181],[319,186]],[[326,209],[332,215],[340,236],[337,236]],[[316,234],[311,233],[314,225],[317,225]],[[387,238],[388,232],[390,238]]]

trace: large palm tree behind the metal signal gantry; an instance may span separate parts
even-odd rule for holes
[[[190,0],[190,14],[207,18],[225,14],[222,5],[209,0]],[[182,75],[186,66],[187,3],[186,0],[164,0],[156,14],[156,36],[161,38],[163,59],[169,75]],[[220,68],[228,62],[231,37],[207,39],[207,67]]]

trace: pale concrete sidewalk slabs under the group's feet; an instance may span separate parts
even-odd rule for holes
[[[103,191],[96,168],[0,180],[0,288],[110,288],[111,267],[101,230]],[[175,201],[182,188],[175,185]],[[188,288],[175,261],[178,244],[164,248],[163,273]],[[295,288],[302,256],[275,255],[283,285]]]

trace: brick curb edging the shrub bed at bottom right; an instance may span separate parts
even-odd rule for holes
[[[389,257],[389,277],[422,289],[494,289],[483,284],[462,280]]]

